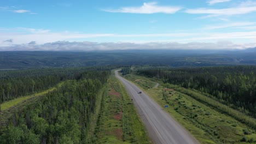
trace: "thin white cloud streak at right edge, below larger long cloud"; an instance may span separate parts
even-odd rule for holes
[[[254,25],[255,22],[232,22],[232,23],[226,23],[222,25],[211,25],[206,26],[203,29],[219,29],[219,28],[229,28],[229,27],[241,27],[241,26],[251,26]]]

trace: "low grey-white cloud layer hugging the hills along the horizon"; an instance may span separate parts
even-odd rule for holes
[[[219,41],[217,43],[95,43],[89,41],[83,42],[69,42],[56,41],[54,43],[46,43],[42,45],[35,45],[35,41],[28,44],[2,46],[0,51],[99,51],[99,50],[160,50],[160,49],[246,49],[248,47],[255,47],[256,43],[248,44],[234,44],[230,41]]]

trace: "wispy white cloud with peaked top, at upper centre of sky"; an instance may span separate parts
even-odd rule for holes
[[[141,7],[123,7],[120,9],[102,9],[102,10],[110,12],[110,13],[174,14],[181,9],[182,9],[182,7],[161,6],[161,5],[157,5],[157,3],[155,3],[155,2],[151,2],[151,3],[143,3],[143,5]]]

